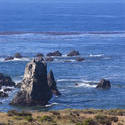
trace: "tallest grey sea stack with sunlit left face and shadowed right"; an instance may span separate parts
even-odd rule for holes
[[[10,104],[46,105],[52,97],[47,81],[47,64],[34,59],[25,68],[21,90]]]

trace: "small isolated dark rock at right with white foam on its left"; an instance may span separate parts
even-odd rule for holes
[[[102,79],[96,86],[96,88],[101,88],[101,89],[110,89],[111,88],[111,83],[109,80]]]

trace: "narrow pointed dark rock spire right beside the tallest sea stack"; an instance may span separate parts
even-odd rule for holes
[[[56,81],[53,75],[53,71],[50,70],[50,72],[47,75],[47,79],[48,79],[48,85],[52,91],[53,94],[55,95],[61,95],[61,93],[58,91],[57,86],[56,86]]]

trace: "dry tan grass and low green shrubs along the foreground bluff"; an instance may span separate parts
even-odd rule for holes
[[[125,110],[73,110],[0,113],[0,125],[125,125]]]

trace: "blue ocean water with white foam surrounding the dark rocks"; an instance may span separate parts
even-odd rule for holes
[[[62,96],[53,97],[51,106],[46,110],[125,108],[124,5],[122,1],[1,0],[0,72],[10,75],[16,82],[20,81],[25,65],[37,53],[59,50],[63,57],[48,62],[48,71],[54,71]],[[85,61],[76,62],[74,58],[65,56],[73,49],[78,50]],[[4,61],[5,57],[16,52],[24,58]],[[102,78],[111,81],[110,90],[95,88]],[[78,86],[75,86],[76,83]],[[16,92],[9,93],[9,98],[0,99],[3,103],[0,111],[20,109],[8,105]]]

